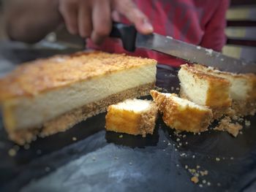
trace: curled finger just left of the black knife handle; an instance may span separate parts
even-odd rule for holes
[[[111,21],[111,9],[110,2],[97,1],[92,12],[92,23],[93,31],[91,34],[91,39],[96,44],[100,44],[105,37],[108,37],[112,27]]]

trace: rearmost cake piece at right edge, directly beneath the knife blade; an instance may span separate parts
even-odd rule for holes
[[[230,97],[236,115],[254,115],[256,112],[256,75],[220,72],[212,67],[194,64],[195,69],[230,81]]]

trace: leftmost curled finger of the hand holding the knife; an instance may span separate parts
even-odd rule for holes
[[[78,34],[78,9],[72,1],[61,1],[59,5],[59,12],[61,12],[67,30],[70,34]]]

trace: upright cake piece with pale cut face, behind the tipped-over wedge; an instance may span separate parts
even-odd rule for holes
[[[232,100],[230,99],[229,80],[201,72],[187,64],[181,65],[178,79],[181,82],[181,97],[210,107],[214,119],[230,111]]]

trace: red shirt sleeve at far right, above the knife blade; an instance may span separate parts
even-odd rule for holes
[[[221,51],[226,43],[225,27],[226,27],[226,12],[229,7],[229,0],[219,1],[211,20],[206,25],[206,31],[203,35],[202,47],[211,48]]]

